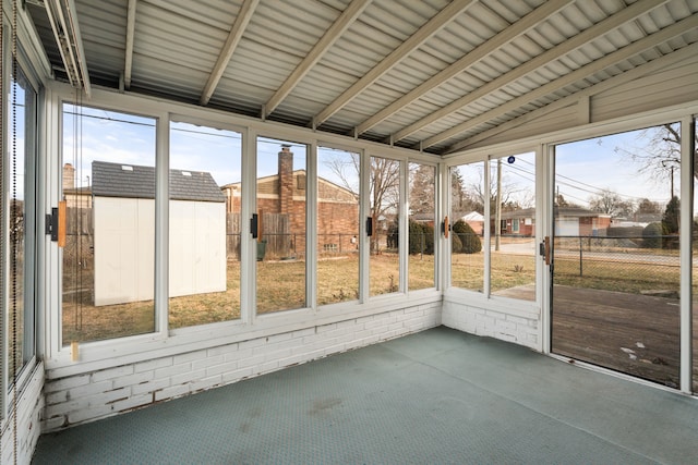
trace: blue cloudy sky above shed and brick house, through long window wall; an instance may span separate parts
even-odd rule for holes
[[[124,113],[83,107],[75,117],[73,106],[65,107],[63,162],[80,171],[76,185],[89,185],[94,160],[124,164],[155,164],[155,120]],[[77,122],[77,124],[76,124]],[[208,171],[218,185],[241,180],[241,134],[233,131],[173,122],[170,126],[170,168]],[[80,140],[79,144],[75,140]],[[265,176],[278,170],[277,155],[288,144],[293,152],[293,169],[305,169],[308,148],[289,140],[260,137],[257,139],[257,174]],[[344,150],[321,149],[321,160],[345,157]],[[339,183],[337,176],[321,161],[322,178]]]

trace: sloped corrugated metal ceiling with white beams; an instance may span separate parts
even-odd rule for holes
[[[55,77],[87,91],[433,154],[698,41],[698,0],[25,4]]]

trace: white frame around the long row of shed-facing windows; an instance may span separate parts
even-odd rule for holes
[[[60,152],[61,147],[61,111],[62,101],[74,102],[73,89],[61,83],[51,82],[49,84],[49,96],[47,98],[47,106],[49,114],[47,121],[56,133],[49,134],[47,152]],[[419,305],[420,303],[434,303],[441,302],[441,293],[434,289],[431,292],[422,292],[418,297],[411,297],[408,299],[407,293],[400,292],[390,294],[388,296],[381,296],[381,299],[369,299],[368,296],[368,262],[362,264],[360,269],[360,286],[361,286],[361,299],[359,302],[328,305],[318,309],[315,303],[314,296],[314,280],[316,267],[314,265],[314,258],[309,260],[308,270],[308,292],[313,295],[309,295],[308,307],[290,310],[278,311],[275,314],[265,315],[263,318],[256,317],[251,308],[254,308],[254,266],[253,258],[256,257],[255,244],[251,238],[249,222],[245,218],[251,218],[252,208],[255,199],[255,183],[249,180],[255,179],[255,158],[256,158],[256,137],[272,137],[280,140],[293,140],[299,144],[305,144],[309,147],[308,155],[308,169],[309,169],[309,198],[308,198],[308,227],[309,234],[308,241],[311,245],[310,253],[316,254],[316,232],[313,229],[316,215],[316,149],[318,145],[326,147],[338,147],[349,151],[358,152],[361,155],[362,167],[370,162],[370,152],[376,154],[380,157],[386,157],[396,159],[407,167],[407,160],[409,157],[414,157],[420,161],[433,162],[433,156],[424,155],[423,160],[421,155],[414,156],[411,151],[384,147],[377,143],[371,143],[366,140],[349,139],[344,136],[333,136],[328,134],[318,134],[315,132],[302,129],[288,126],[280,123],[265,122],[255,119],[231,115],[230,113],[204,109],[201,107],[194,107],[184,103],[163,101],[156,98],[135,96],[130,94],[118,94],[115,91],[94,88],[92,98],[88,102],[84,102],[88,107],[105,108],[109,111],[119,111],[131,114],[142,114],[156,119],[158,126],[157,143],[156,143],[156,170],[159,189],[166,188],[167,170],[169,160],[168,140],[169,140],[169,121],[185,121],[185,122],[204,122],[206,125],[228,129],[242,134],[242,179],[243,179],[243,205],[242,205],[242,235],[248,237],[248,241],[242,241],[241,259],[243,260],[241,290],[242,290],[242,311],[239,320],[225,321],[219,323],[204,325],[181,328],[176,331],[168,331],[167,315],[163,310],[163,302],[167,302],[167,286],[166,280],[156,280],[156,320],[157,327],[154,333],[140,334],[127,338],[118,338],[112,340],[87,342],[80,345],[79,360],[73,362],[71,359],[71,351],[69,346],[62,346],[60,342],[60,315],[57,310],[60,308],[60,253],[53,243],[47,242],[45,247],[47,248],[47,272],[46,282],[47,289],[47,305],[46,313],[43,318],[46,321],[46,354],[45,364],[48,369],[51,369],[55,376],[70,376],[93,369],[107,368],[115,366],[115,364],[128,364],[140,360],[146,360],[165,356],[174,353],[181,353],[191,351],[193,347],[204,348],[213,347],[221,344],[229,344],[239,341],[250,339],[251,331],[255,336],[264,334],[272,335],[279,332],[288,331],[289,326],[293,327],[313,327],[318,321],[322,323],[328,323],[333,321],[341,321],[351,317],[359,317],[365,315],[380,314],[394,308],[404,308],[405,306]],[[161,122],[161,124],[160,124]],[[61,160],[59,157],[52,157],[47,160],[46,179],[47,179],[47,193],[46,205],[47,207],[56,206],[58,203],[58,186],[61,183]],[[365,168],[364,168],[364,172]],[[405,173],[402,173],[405,176]],[[248,180],[245,182],[245,180]],[[364,175],[362,179],[362,188],[368,183],[368,178]],[[164,191],[167,192],[167,191]],[[160,200],[158,208],[156,209],[156,224],[158,231],[163,230],[163,238],[167,238],[165,225],[167,224],[167,196],[160,193]],[[246,200],[244,200],[246,198]],[[368,196],[363,196],[366,198]],[[360,211],[361,218],[365,216],[364,210]],[[401,208],[405,207],[405,197],[401,200]],[[404,218],[405,215],[402,215]],[[404,220],[406,221],[406,220]],[[360,222],[360,242],[364,241],[364,224]],[[402,228],[405,231],[406,228]],[[405,232],[402,234],[406,234]],[[407,236],[405,236],[407,237]],[[404,242],[404,240],[402,240]],[[158,244],[156,255],[156,272],[163,277],[163,270],[167,269],[167,241],[156,241]],[[362,245],[362,254],[368,248]],[[407,277],[406,260],[402,258],[400,264],[401,276]],[[159,301],[159,304],[158,304]],[[374,302],[375,301],[375,302]],[[118,354],[118,357],[115,357]]]

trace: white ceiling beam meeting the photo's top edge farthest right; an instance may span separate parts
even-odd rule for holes
[[[411,134],[422,130],[423,127],[429,126],[430,124],[435,123],[436,121],[447,118],[449,114],[455,113],[456,111],[465,108],[466,106],[472,103],[473,101],[492,94],[495,90],[498,90],[502,87],[505,87],[517,79],[524,77],[528,73],[535,71],[537,69],[546,65],[547,63],[559,59],[561,57],[566,56],[567,53],[576,50],[577,48],[583,46],[585,44],[590,42],[591,40],[607,34],[609,32],[619,27],[621,25],[635,20],[641,14],[647,13],[648,11],[666,3],[666,1],[659,2],[655,0],[640,0],[636,3],[633,3],[629,7],[626,7],[618,11],[613,16],[609,16],[605,20],[594,24],[588,29],[582,30],[574,37],[565,40],[562,44],[553,47],[552,49],[539,54],[538,57],[522,63],[521,65],[515,68],[514,70],[501,75],[500,77],[490,81],[489,83],[480,86],[478,89],[471,91],[470,94],[454,100],[448,103],[446,107],[438,109],[437,111],[430,113],[429,117],[425,117],[407,127],[395,133],[395,140],[404,139],[405,137],[409,137]]]

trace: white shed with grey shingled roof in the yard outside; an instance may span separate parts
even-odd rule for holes
[[[95,305],[154,295],[155,168],[94,161]],[[210,173],[170,170],[169,295],[226,290],[226,197]]]

